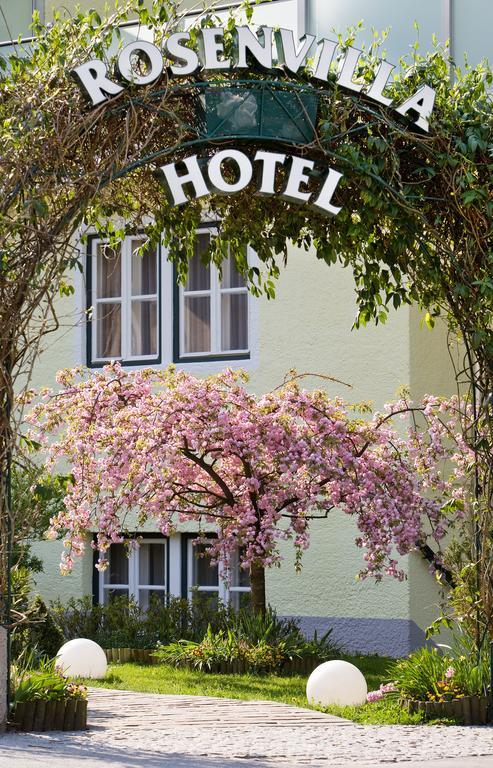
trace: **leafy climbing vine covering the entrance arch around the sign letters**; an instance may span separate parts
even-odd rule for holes
[[[249,13],[248,4],[243,10]],[[118,45],[116,30],[135,18],[153,28],[159,43],[176,25],[176,9],[170,1],[155,2],[148,10],[134,0],[110,19],[101,20],[95,12],[59,16],[50,28],[35,24],[28,55],[19,44],[9,61],[3,61],[0,513],[4,562],[5,479],[18,433],[17,415],[11,408],[14,385],[29,374],[43,337],[57,327],[56,296],[72,290],[67,270],[81,263],[74,239],[79,228],[96,227],[115,241],[137,228],[154,242],[165,232],[170,257],[183,278],[194,232],[204,215],[203,200],[172,207],[156,175],[163,162],[163,136],[168,162],[183,158],[184,144],[193,139],[197,105],[193,83],[178,97],[165,71],[158,98],[156,84],[139,88],[138,93],[130,87],[89,110],[70,77],[70,71],[91,56],[108,61],[111,44]],[[198,26],[213,23],[213,15],[207,12],[197,20]],[[227,42],[235,28],[233,17],[226,27]],[[351,33],[340,42],[343,56],[344,46],[352,42]],[[361,60],[359,78],[371,83],[378,61],[375,45]],[[272,296],[273,279],[287,258],[286,243],[294,241],[313,248],[327,264],[340,263],[352,270],[357,325],[383,322],[391,309],[411,302],[423,308],[429,324],[438,315],[445,316],[463,344],[465,359],[458,377],[470,387],[476,417],[472,428],[464,424],[475,453],[475,535],[468,541],[475,564],[474,600],[479,601],[488,623],[493,609],[489,544],[493,525],[492,74],[483,64],[455,68],[439,48],[426,55],[415,51],[407,64],[411,70],[409,66],[400,70],[388,93],[402,101],[423,81],[435,89],[435,109],[426,134],[364,94],[338,87],[335,74],[317,85],[309,82],[308,72],[299,73],[299,82],[320,90],[320,107],[313,141],[298,146],[297,154],[333,165],[343,174],[337,189],[341,210],[327,217],[281,197],[254,197],[249,188],[236,196],[211,196],[206,200],[207,214],[220,225],[209,258],[220,264],[223,244],[228,242],[252,290]],[[228,140],[221,144],[228,146]],[[257,148],[262,147],[259,139]],[[210,152],[212,148],[202,150],[205,156]],[[141,164],[144,156],[155,160]],[[128,168],[132,170],[126,172]],[[281,173],[279,185],[282,182]],[[244,260],[247,244],[257,252],[262,274]]]

